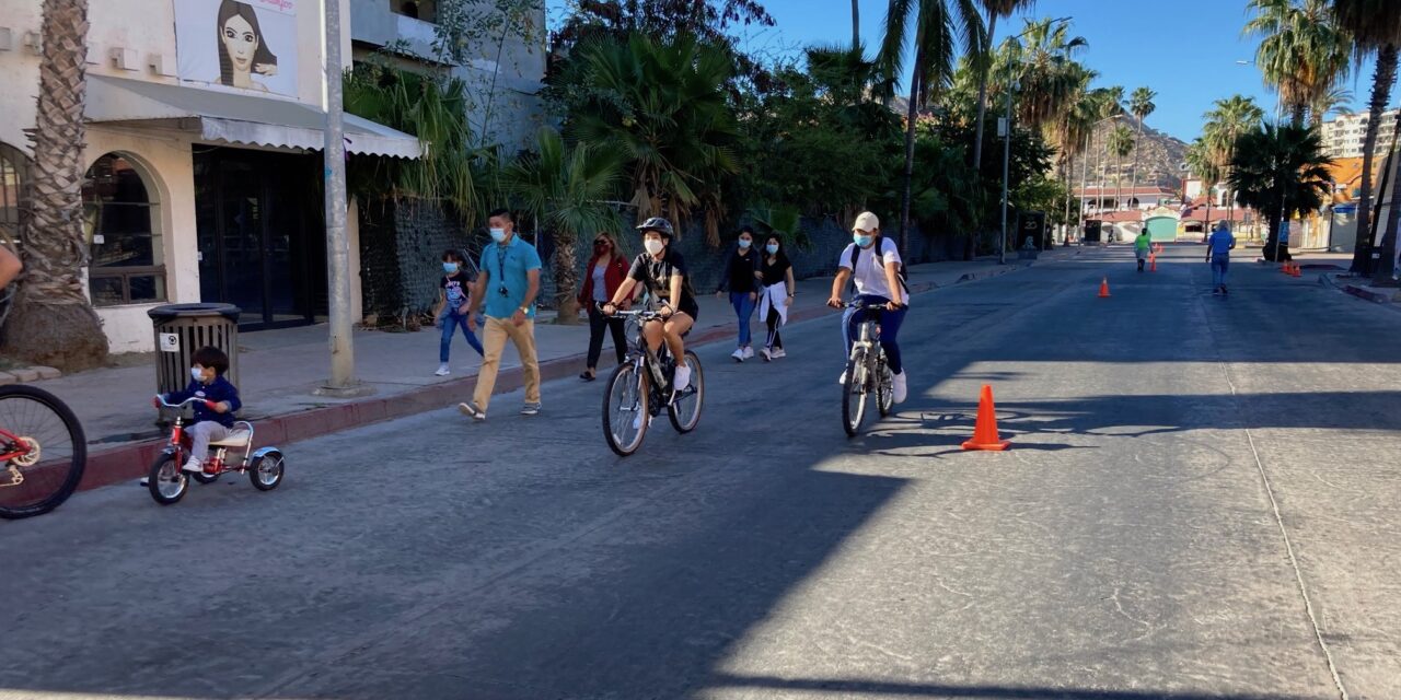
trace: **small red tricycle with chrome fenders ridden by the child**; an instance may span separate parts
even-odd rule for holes
[[[284,468],[282,449],[276,447],[254,449],[254,424],[247,420],[234,423],[234,430],[224,440],[216,440],[209,444],[210,454],[202,462],[202,473],[185,472],[181,466],[189,459],[191,441],[185,435],[184,409],[195,402],[205,402],[213,407],[214,402],[199,396],[191,396],[179,403],[168,403],[160,396],[156,400],[167,409],[177,409],[170,442],[156,456],[156,462],[151,463],[151,470],[146,477],[146,487],[151,491],[151,498],[156,498],[156,503],[171,505],[184,498],[189,491],[191,476],[199,483],[214,483],[220,476],[230,472],[247,473],[248,480],[259,491],[270,491],[282,483]],[[235,452],[235,456],[241,455],[242,459],[230,462],[230,449]]]

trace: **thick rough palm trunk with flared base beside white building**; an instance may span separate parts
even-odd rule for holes
[[[85,370],[106,363],[106,335],[83,284],[83,101],[87,0],[43,0],[38,116],[25,277],[6,322],[4,350],[27,361]]]

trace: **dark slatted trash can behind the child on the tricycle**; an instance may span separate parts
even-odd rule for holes
[[[156,392],[189,385],[191,356],[214,346],[228,356],[224,377],[238,385],[238,315],[233,304],[165,304],[146,312],[156,330]],[[165,410],[161,410],[165,419]]]

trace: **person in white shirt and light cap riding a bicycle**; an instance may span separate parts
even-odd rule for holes
[[[842,308],[842,288],[848,280],[856,281],[856,301],[859,304],[884,305],[883,311],[873,311],[880,318],[880,346],[885,350],[885,364],[890,365],[894,377],[894,399],[902,403],[906,393],[905,367],[899,361],[899,325],[905,321],[905,311],[909,308],[909,290],[901,279],[899,251],[894,241],[880,235],[880,218],[870,211],[863,211],[852,225],[852,245],[842,251],[842,258],[836,262],[836,279],[832,280],[832,298],[827,304],[832,308]],[[842,316],[846,340],[846,354],[852,354],[852,343],[860,332],[864,321],[863,312],[848,309]],[[842,372],[841,384],[846,384],[846,372]]]

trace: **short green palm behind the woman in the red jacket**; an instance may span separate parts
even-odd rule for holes
[[[618,225],[605,202],[618,182],[622,158],[612,148],[566,147],[559,132],[548,126],[537,133],[535,148],[513,162],[503,179],[521,211],[537,217],[553,237],[551,267],[559,323],[577,323],[579,238]]]

